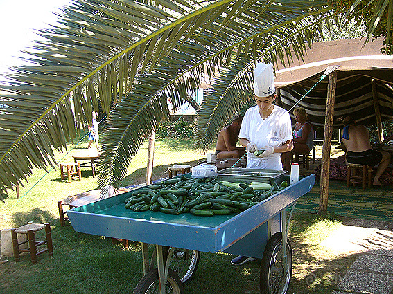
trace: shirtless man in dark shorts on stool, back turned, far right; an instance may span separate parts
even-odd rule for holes
[[[369,130],[363,125],[356,125],[355,120],[350,116],[344,118],[342,123],[344,124],[342,142],[347,148],[345,159],[348,163],[358,165],[369,165],[370,167],[378,165],[372,184],[381,186],[379,178],[390,163],[390,154],[372,149]]]

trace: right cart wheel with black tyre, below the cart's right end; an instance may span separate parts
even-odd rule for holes
[[[286,242],[287,264],[283,268],[282,235],[275,233],[266,244],[263,252],[261,275],[259,277],[261,294],[286,294],[292,276],[292,247]]]

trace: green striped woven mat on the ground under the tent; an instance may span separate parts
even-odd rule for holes
[[[317,178],[313,189],[304,194],[295,210],[316,213],[320,204],[320,181]],[[329,181],[328,212],[358,219],[393,221],[393,187],[362,189],[347,187],[344,181]]]

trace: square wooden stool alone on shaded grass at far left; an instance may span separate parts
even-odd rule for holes
[[[45,229],[45,241],[36,241],[35,240],[35,232]],[[26,234],[27,240],[19,243],[18,234]],[[49,256],[53,255],[53,245],[52,245],[52,236],[51,236],[51,224],[50,223],[32,223],[31,221],[24,226],[19,228],[11,229],[12,236],[12,246],[14,248],[14,256],[15,261],[20,261],[19,252],[30,252],[31,261],[33,264],[37,264],[37,255],[44,253],[46,251],[49,252]],[[28,249],[21,249],[19,246],[28,242]],[[37,246],[41,246],[46,244],[46,248],[37,252]]]

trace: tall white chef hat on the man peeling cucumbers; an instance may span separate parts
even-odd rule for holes
[[[272,64],[262,62],[254,69],[254,94],[258,97],[268,97],[274,94],[274,73]]]

